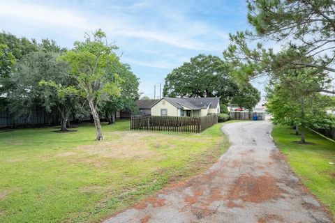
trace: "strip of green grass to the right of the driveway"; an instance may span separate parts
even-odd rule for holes
[[[288,126],[275,125],[272,137],[281,151],[287,155],[293,171],[302,183],[335,215],[335,143],[314,132],[306,132],[306,141],[313,144],[297,144],[299,136]]]

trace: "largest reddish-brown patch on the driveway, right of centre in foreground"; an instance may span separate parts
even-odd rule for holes
[[[280,197],[281,189],[273,176],[240,176],[230,190],[227,199],[262,203]]]

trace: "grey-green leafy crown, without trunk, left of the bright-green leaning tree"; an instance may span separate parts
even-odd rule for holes
[[[17,70],[10,75],[13,87],[8,94],[9,109],[15,116],[29,116],[36,107],[45,107],[47,112],[54,107],[57,92],[46,91],[39,82],[66,79],[61,75],[68,67],[56,61],[58,56],[58,53],[38,51],[22,57]]]

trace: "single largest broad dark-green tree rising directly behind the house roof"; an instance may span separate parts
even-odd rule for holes
[[[199,54],[165,77],[163,95],[168,97],[219,97],[227,103],[238,90],[230,69],[218,56]]]

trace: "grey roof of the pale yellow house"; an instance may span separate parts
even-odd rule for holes
[[[161,98],[161,100],[163,99],[167,100],[174,107],[177,107],[179,109],[183,107],[188,107],[192,110],[199,110],[207,107],[209,107],[210,109],[215,109],[219,102],[219,98]],[[157,102],[159,101],[160,100],[158,100]],[[156,103],[154,103],[152,106],[156,105]]]

